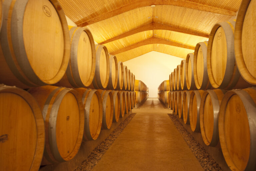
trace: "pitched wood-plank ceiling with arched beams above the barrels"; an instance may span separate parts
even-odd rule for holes
[[[208,40],[214,24],[236,16],[242,0],[59,0],[118,61],[151,51],[180,58]]]

